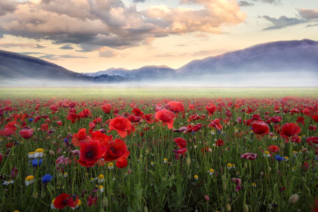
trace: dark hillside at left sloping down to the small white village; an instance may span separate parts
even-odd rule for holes
[[[90,77],[54,63],[0,50],[1,85],[95,85],[128,81],[122,76]]]

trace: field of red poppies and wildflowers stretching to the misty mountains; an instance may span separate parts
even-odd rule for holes
[[[317,89],[115,90],[0,91],[1,211],[318,211]]]

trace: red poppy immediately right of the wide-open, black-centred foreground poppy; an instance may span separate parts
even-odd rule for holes
[[[114,161],[120,158],[121,156],[129,156],[129,151],[127,151],[127,146],[125,144],[125,141],[121,139],[116,139],[113,141],[110,141],[108,143],[106,153],[104,156],[105,161]],[[125,157],[125,158],[127,158]]]

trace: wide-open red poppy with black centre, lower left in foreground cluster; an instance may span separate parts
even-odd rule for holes
[[[100,148],[100,142],[94,140],[89,142],[81,141],[79,151],[80,156],[77,162],[79,162],[80,165],[86,167],[94,166],[103,154]]]

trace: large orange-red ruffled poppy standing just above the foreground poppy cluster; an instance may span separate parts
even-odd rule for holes
[[[118,116],[110,120],[108,127],[108,132],[116,130],[120,137],[125,138],[128,133],[130,134],[131,122],[125,117]]]

